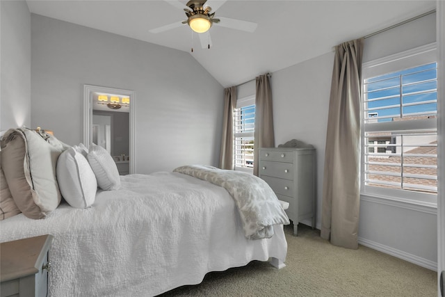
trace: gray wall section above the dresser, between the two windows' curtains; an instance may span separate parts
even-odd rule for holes
[[[271,79],[275,146],[295,138],[316,148],[318,228],[321,223],[327,109],[333,63],[334,53],[327,53],[274,72]]]

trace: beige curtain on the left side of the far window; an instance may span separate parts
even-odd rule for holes
[[[234,108],[236,87],[224,89],[223,133],[221,138],[220,168],[234,169]]]

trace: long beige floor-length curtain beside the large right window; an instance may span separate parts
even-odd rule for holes
[[[358,248],[363,38],[335,47],[323,175],[321,236]]]

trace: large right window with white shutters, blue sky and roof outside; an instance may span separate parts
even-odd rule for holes
[[[435,46],[363,67],[362,193],[436,202]]]

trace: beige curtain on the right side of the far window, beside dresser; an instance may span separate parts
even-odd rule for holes
[[[253,174],[258,176],[258,150],[260,147],[274,147],[272,90],[268,74],[257,77],[255,96],[255,133]]]

